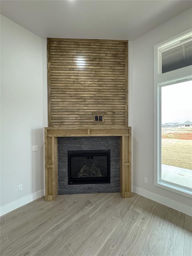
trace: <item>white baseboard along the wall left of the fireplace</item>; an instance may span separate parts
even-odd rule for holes
[[[37,191],[31,195],[28,195],[28,196],[22,197],[18,200],[15,200],[9,204],[3,205],[3,206],[1,206],[1,209],[0,209],[0,216],[6,214],[8,212],[11,212],[25,204],[28,204],[44,195],[45,194],[44,194],[44,189],[43,189],[43,190]]]

